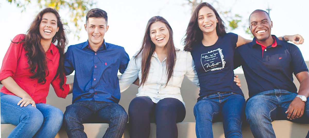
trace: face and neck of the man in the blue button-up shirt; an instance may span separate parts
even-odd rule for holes
[[[84,25],[88,33],[89,46],[100,46],[104,41],[105,32],[108,30],[107,22],[104,18],[88,18]]]

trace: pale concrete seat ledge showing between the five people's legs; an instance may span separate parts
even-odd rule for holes
[[[306,137],[309,130],[308,124],[293,123],[287,120],[276,120],[272,122],[275,134],[280,138],[295,138],[295,137]],[[101,138],[106,129],[108,128],[107,123],[85,123],[85,132],[88,138]],[[177,123],[178,127],[178,137],[179,138],[196,138],[195,135],[195,122],[183,122]],[[223,123],[216,122],[213,123],[213,133],[214,138],[224,138]],[[1,124],[1,137],[7,137],[10,132],[15,128],[12,124]],[[244,125],[243,137],[253,138],[250,127]],[[55,138],[67,138],[66,131],[64,128],[58,132]],[[122,138],[129,138],[128,127],[125,128],[125,133]],[[149,138],[156,138],[156,125],[155,123],[150,124],[150,136]]]

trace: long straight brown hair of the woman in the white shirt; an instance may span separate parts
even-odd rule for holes
[[[166,25],[168,31],[169,31],[169,36],[170,36],[168,41],[167,41],[167,44],[165,45],[166,53],[167,53],[167,56],[166,56],[166,68],[167,68],[166,85],[167,85],[168,81],[171,79],[171,76],[172,76],[173,71],[174,71],[174,66],[175,66],[175,61],[176,61],[176,50],[175,50],[174,41],[173,41],[173,30],[172,30],[170,24],[168,24],[166,19],[164,19],[161,16],[154,16],[154,17],[150,18],[148,23],[147,23],[142,47],[141,47],[140,51],[138,52],[138,54],[135,56],[135,57],[137,57],[139,54],[142,54],[142,78],[140,78],[141,83],[139,84],[139,87],[144,85],[146,80],[147,80],[147,77],[148,77],[148,74],[149,74],[149,69],[150,69],[150,60],[151,60],[152,54],[155,52],[155,44],[151,41],[151,38],[150,38],[150,26],[151,26],[151,24],[153,24],[155,22],[164,23]]]

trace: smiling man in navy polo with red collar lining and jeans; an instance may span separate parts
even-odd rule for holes
[[[271,122],[309,123],[309,73],[303,56],[293,44],[271,35],[267,12],[253,11],[249,28],[254,39],[235,53],[235,67],[242,65],[249,89],[247,121],[256,138],[276,137]],[[293,73],[300,82],[299,91]]]

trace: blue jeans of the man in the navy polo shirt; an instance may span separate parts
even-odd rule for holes
[[[296,93],[286,90],[274,89],[258,93],[250,98],[246,105],[246,116],[253,136],[275,138],[275,132],[271,124],[273,120],[309,123],[308,102],[305,103],[305,111],[302,117],[293,120],[286,118],[287,114],[285,112],[296,95]]]

